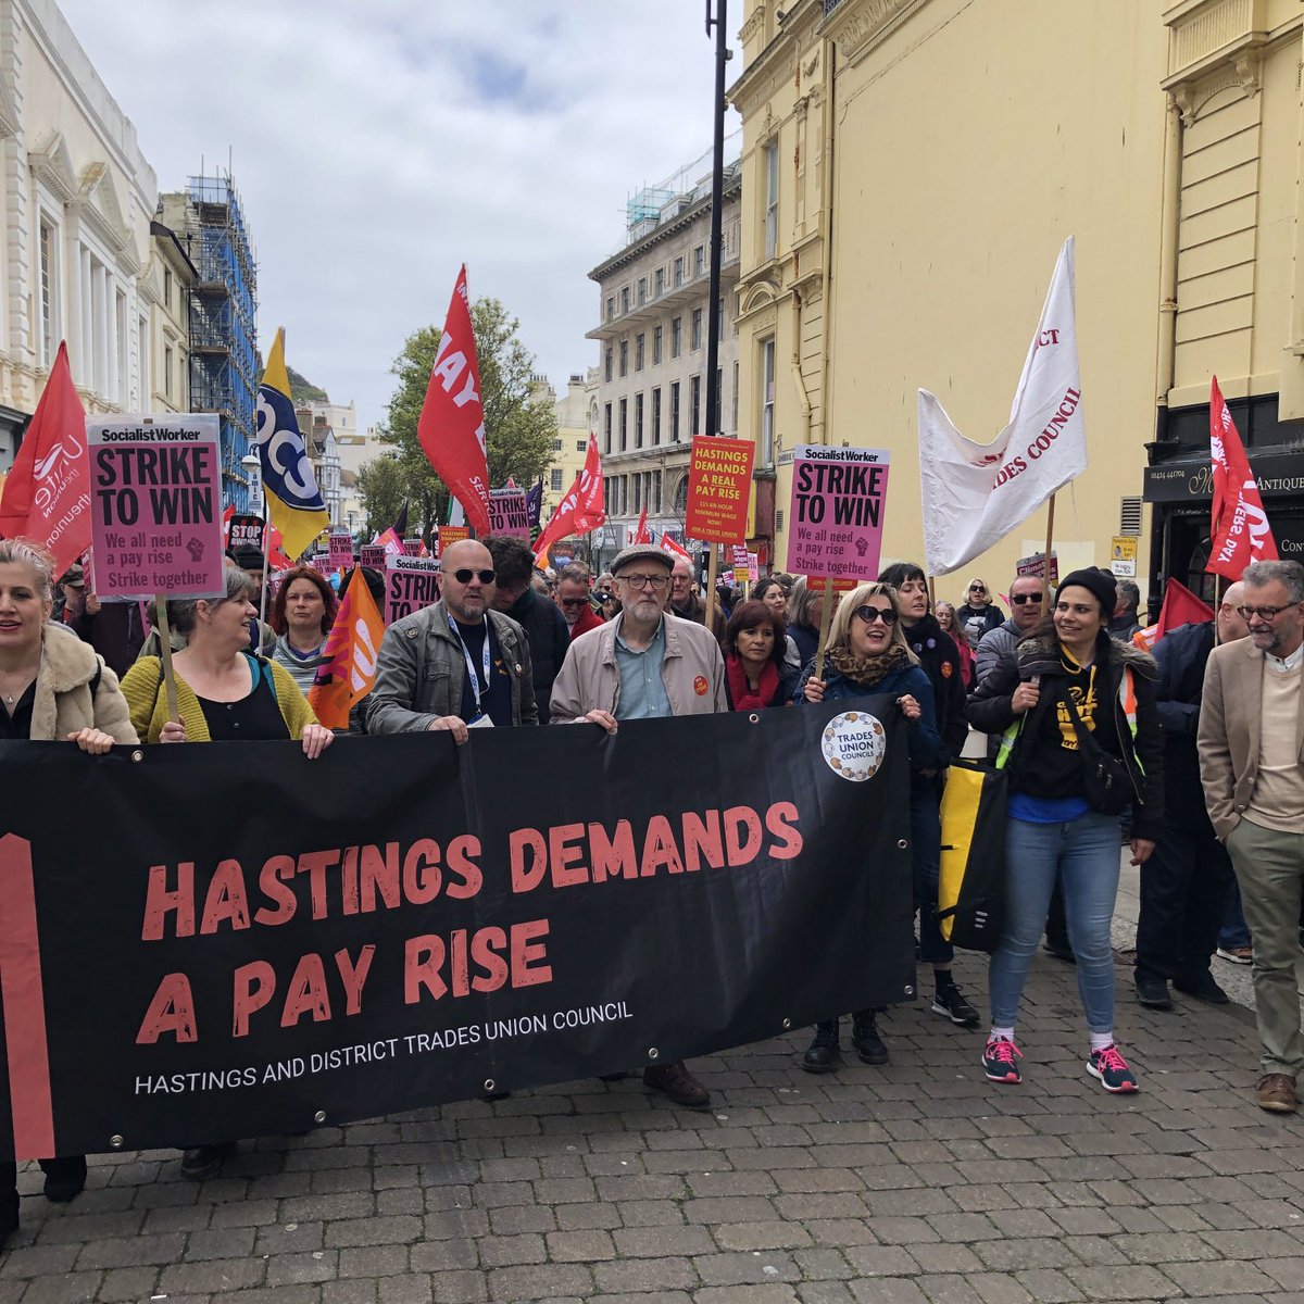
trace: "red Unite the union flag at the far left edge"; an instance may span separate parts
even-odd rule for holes
[[[0,537],[31,539],[50,549],[55,574],[90,548],[90,458],[86,413],[60,343],[0,501]]]

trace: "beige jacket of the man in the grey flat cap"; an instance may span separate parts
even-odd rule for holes
[[[661,682],[675,716],[709,716],[728,711],[725,660],[720,644],[700,625],[669,613]],[[589,711],[615,713],[621,700],[621,669],[615,662],[615,634],[622,617],[582,634],[570,645],[553,685],[553,724],[580,720]]]

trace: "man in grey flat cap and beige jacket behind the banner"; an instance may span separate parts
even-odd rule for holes
[[[553,724],[708,716],[729,709],[720,644],[705,627],[664,610],[674,558],[653,544],[615,554],[612,575],[621,613],[570,645],[553,685]],[[643,1071],[643,1085],[675,1104],[705,1108],[711,1093],[682,1060]]]

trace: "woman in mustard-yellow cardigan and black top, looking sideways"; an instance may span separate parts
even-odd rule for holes
[[[172,599],[168,621],[186,640],[172,657],[180,720],[168,720],[163,665],[142,657],[123,678],[132,724],[146,742],[235,742],[301,738],[304,754],[319,756],[334,734],[273,661],[249,651],[249,601],[244,571],[224,571],[226,596]]]

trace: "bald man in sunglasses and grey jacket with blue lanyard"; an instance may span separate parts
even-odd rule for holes
[[[493,609],[496,575],[484,544],[464,539],[439,558],[442,597],[395,621],[381,640],[366,732],[451,733],[537,725],[526,632]]]

